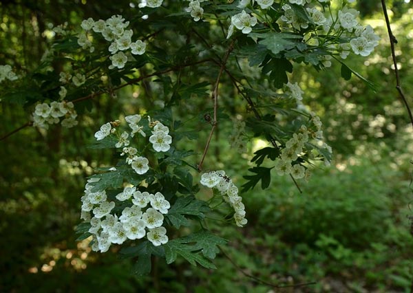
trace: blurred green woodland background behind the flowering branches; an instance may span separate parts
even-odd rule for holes
[[[85,177],[112,160],[110,153],[87,149],[87,143],[102,122],[149,107],[148,101],[129,98],[136,88],[122,90],[116,100],[104,96],[94,101],[94,109],[75,129],[54,127],[47,135],[23,129],[1,141],[0,292],[276,291],[246,274],[276,284],[315,282],[286,292],[409,292],[413,131],[394,89],[379,2],[359,0],[357,6],[365,23],[380,34],[381,44],[368,58],[348,60],[350,67],[376,84],[376,92],[354,77],[339,78],[338,64],[328,72],[296,68],[306,92],[304,102],[324,122],[335,155],[332,166],[315,171],[307,184],[301,182],[302,194],[288,178],[276,176],[271,188],[244,194],[246,228],[211,224],[230,239],[226,256],[220,254],[215,261],[218,270],[154,260],[151,276],[138,278],[131,274],[133,262],[118,259],[116,249],[100,255],[91,252],[87,241],[75,241]],[[399,41],[402,86],[411,98],[413,6],[407,0],[386,2]],[[50,43],[45,32],[52,25],[67,21],[76,26],[87,17],[133,13],[129,1],[123,0],[2,1],[1,64],[21,70],[39,65]],[[237,107],[233,105],[234,111]],[[24,124],[28,114],[16,105],[0,103],[0,117],[3,135]],[[193,127],[198,123],[195,119]],[[219,158],[215,167],[224,167],[240,186],[248,159],[263,142],[248,144],[248,153],[241,158],[227,145],[230,132],[222,127],[213,142]],[[202,140],[199,143],[202,146]]]

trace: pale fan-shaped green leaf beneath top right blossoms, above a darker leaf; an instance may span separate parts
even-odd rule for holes
[[[258,43],[265,45],[275,55],[284,50],[293,49],[298,43],[297,40],[302,39],[302,36],[286,32],[254,33],[248,34],[248,36],[261,39]]]

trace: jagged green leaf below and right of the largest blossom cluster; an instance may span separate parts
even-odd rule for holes
[[[220,251],[218,245],[226,242],[226,239],[213,235],[207,230],[201,230],[166,243],[165,258],[168,264],[173,263],[179,254],[191,265],[199,263],[204,268],[215,269],[215,265],[209,259],[215,259],[216,254]]]

